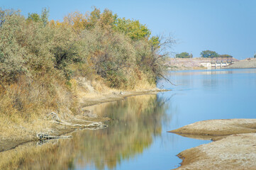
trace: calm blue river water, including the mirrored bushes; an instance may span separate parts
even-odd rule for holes
[[[174,169],[182,162],[175,155],[210,141],[168,130],[199,120],[255,118],[256,69],[178,71],[170,72],[169,79],[179,85],[160,81],[158,86],[172,91],[89,107],[112,119],[108,128],[74,132],[71,140],[48,144],[51,152],[35,155],[33,164],[49,167],[47,162],[50,169]]]

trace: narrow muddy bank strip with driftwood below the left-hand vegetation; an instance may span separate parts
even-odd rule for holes
[[[0,134],[0,152],[13,149],[18,145],[25,144],[26,142],[38,140],[38,137],[36,137],[36,134],[38,132],[45,132],[48,135],[52,135],[52,136],[61,136],[69,132],[73,132],[75,130],[87,129],[88,128],[87,125],[89,125],[90,123],[103,123],[102,127],[94,127],[94,128],[105,128],[104,122],[108,121],[109,118],[95,115],[94,113],[91,113],[90,111],[87,111],[84,108],[87,106],[93,106],[96,104],[106,103],[109,101],[123,100],[128,96],[136,96],[136,95],[143,95],[143,94],[157,94],[160,91],[166,91],[166,90],[155,88],[155,89],[144,90],[144,91],[117,91],[117,92],[110,91],[109,93],[106,93],[106,94],[96,94],[96,95],[94,94],[94,95],[84,96],[84,98],[81,98],[81,101],[79,104],[81,106],[80,108],[82,108],[81,115],[67,115],[67,118],[61,121],[53,121],[52,119],[42,120],[46,122],[45,127],[42,128],[42,130],[33,131],[33,132],[24,132],[23,134],[13,136],[12,138],[4,138],[4,137],[1,137],[1,134]]]

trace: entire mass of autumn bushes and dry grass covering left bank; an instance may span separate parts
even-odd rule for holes
[[[0,9],[0,145],[50,131],[52,111],[65,120],[81,115],[79,96],[89,89],[79,80],[97,93],[154,88],[174,40],[150,35],[108,9],[62,22],[48,21],[47,8],[28,18]]]

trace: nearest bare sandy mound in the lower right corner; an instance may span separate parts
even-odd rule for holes
[[[222,140],[187,149],[178,169],[255,169],[256,134],[230,135]]]

